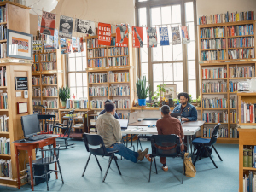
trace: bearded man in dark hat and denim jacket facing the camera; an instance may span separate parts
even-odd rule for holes
[[[189,94],[179,93],[177,98],[180,104],[173,109],[173,113],[181,113],[182,121],[196,121],[197,120],[197,110],[194,105],[189,104]]]

